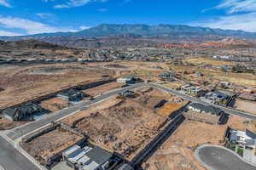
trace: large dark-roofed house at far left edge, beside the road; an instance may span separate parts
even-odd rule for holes
[[[4,117],[11,121],[26,120],[29,116],[33,116],[39,112],[45,111],[40,105],[27,103],[16,107],[9,107],[2,111]]]

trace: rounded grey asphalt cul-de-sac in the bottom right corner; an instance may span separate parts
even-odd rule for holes
[[[196,150],[196,157],[209,170],[255,170],[230,150],[214,145],[202,145]]]

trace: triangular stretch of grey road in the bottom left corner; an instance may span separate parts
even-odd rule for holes
[[[39,170],[2,137],[0,137],[0,165],[3,170]]]

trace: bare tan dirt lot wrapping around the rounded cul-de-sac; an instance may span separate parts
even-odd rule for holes
[[[201,144],[223,144],[228,126],[239,130],[256,131],[256,122],[239,116],[230,116],[226,125],[210,125],[204,122],[186,120],[177,131],[166,140],[159,150],[143,165],[150,170],[205,170],[194,157],[194,150]]]

